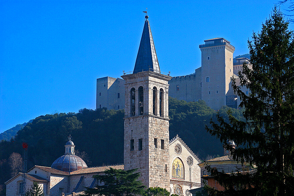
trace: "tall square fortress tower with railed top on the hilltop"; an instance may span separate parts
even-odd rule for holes
[[[226,105],[226,95],[233,76],[235,47],[224,38],[204,40],[201,50],[202,100],[213,109]]]

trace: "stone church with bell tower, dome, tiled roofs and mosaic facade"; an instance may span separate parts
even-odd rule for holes
[[[64,155],[51,167],[34,166],[27,171],[26,190],[37,182],[44,195],[74,195],[84,187],[95,187],[98,182],[92,176],[110,167],[138,168],[139,180],[147,188],[162,187],[180,196],[190,196],[189,190],[201,187],[201,161],[178,135],[169,140],[168,81],[172,77],[159,68],[147,15],[134,71],[121,77],[125,97],[124,164],[88,167],[75,155],[69,137]],[[5,184],[6,196],[21,195],[21,173]]]

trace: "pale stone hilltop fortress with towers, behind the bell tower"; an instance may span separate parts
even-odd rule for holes
[[[237,58],[236,62],[233,63],[235,47],[224,38],[213,38],[204,40],[204,42],[204,44],[199,45],[201,67],[197,68],[193,74],[172,77],[168,81],[169,96],[185,101],[201,99],[215,110],[223,105],[238,108],[240,98],[233,92],[231,78],[237,78],[236,84],[237,86],[240,85],[240,79],[237,76],[238,71],[242,69],[243,62],[250,66],[249,59]],[[155,48],[154,53],[156,55]],[[153,71],[154,68],[151,67],[151,64],[149,64],[146,70],[137,71],[142,72],[147,71],[147,69]],[[123,109],[125,102],[124,84],[125,81],[121,78],[98,78],[96,108]],[[249,91],[246,87],[241,89],[248,94]]]

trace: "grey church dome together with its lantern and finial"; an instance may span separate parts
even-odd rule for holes
[[[71,135],[68,137],[68,141],[65,144],[65,153],[58,159],[56,159],[51,167],[64,172],[73,172],[85,167],[88,167],[85,161],[75,155],[74,143],[71,141]]]

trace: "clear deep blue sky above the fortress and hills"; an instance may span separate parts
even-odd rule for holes
[[[133,70],[146,7],[161,71],[182,76],[201,65],[205,39],[248,53],[276,2],[1,0],[0,132],[54,110],[95,109],[96,78]]]

